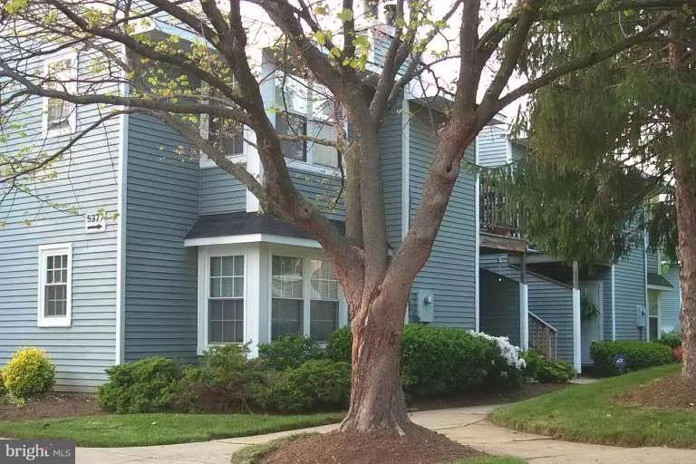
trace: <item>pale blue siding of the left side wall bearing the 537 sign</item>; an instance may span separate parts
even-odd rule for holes
[[[91,56],[78,57],[78,75],[87,75]],[[43,73],[43,62],[27,63],[27,72]],[[78,86],[78,92],[84,89]],[[115,87],[103,88],[113,91]],[[86,129],[104,114],[96,106],[77,109],[77,131]],[[12,115],[17,127],[5,132],[0,144],[5,154],[40,147],[47,153],[62,148],[69,135],[43,138],[43,99],[31,98]],[[116,234],[117,225],[84,232],[82,215],[103,208],[117,210],[119,118],[104,122],[79,140],[54,166],[55,179],[37,181],[33,196],[14,191],[0,202],[0,365],[19,347],[43,348],[55,364],[56,389],[92,391],[101,384],[104,370],[115,362]],[[0,186],[0,198],[7,186]],[[60,209],[78,208],[80,215]],[[23,220],[31,220],[24,226]],[[72,326],[38,328],[38,247],[73,244]]]

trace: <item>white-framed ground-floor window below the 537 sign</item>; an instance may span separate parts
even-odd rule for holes
[[[73,246],[39,247],[38,326],[72,324]]]

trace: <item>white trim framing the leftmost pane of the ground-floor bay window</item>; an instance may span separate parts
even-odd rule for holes
[[[253,250],[249,247],[200,247],[198,248],[198,346],[197,353],[202,355],[212,346],[220,346],[227,343],[210,343],[209,338],[209,321],[208,321],[208,295],[210,295],[210,258],[213,256],[244,256],[244,293],[242,301],[244,302],[244,343],[253,342],[256,335],[250,330],[250,318],[254,317],[253,310],[256,310],[252,305],[254,284],[251,282],[254,275],[258,273],[253,269],[258,266],[258,258],[251,256],[257,249]],[[257,297],[256,297],[257,298]],[[256,315],[256,318],[258,316]]]

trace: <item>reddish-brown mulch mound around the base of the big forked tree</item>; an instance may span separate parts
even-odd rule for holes
[[[444,435],[410,425],[406,436],[372,432],[333,431],[290,441],[262,461],[263,464],[433,464],[480,455]],[[370,443],[370,446],[365,446]]]

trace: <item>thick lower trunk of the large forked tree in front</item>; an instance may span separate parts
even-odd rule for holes
[[[399,382],[407,295],[408,289],[399,298],[382,293],[354,313],[353,389],[341,430],[404,434],[405,426],[411,423]]]

